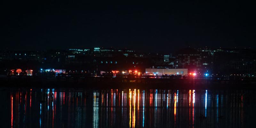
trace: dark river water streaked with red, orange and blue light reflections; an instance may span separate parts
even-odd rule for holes
[[[255,90],[1,89],[1,127],[255,127]]]

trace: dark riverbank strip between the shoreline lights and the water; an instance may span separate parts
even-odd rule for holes
[[[84,77],[12,77],[0,78],[2,87],[77,87],[86,89],[256,89],[252,81],[231,81],[216,79],[154,79],[139,78],[128,80],[123,78]]]

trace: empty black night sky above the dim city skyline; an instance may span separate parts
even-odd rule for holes
[[[242,2],[242,1],[241,1]],[[2,3],[1,49],[256,48],[253,3]]]

